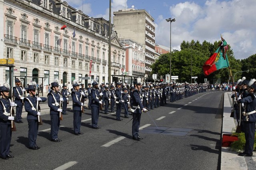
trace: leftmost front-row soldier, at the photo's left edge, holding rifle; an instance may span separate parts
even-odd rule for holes
[[[17,105],[8,99],[9,92],[10,85],[4,83],[0,87],[0,158],[2,159],[14,158],[9,154],[12,140],[11,121],[14,121],[14,117],[10,113],[11,106]]]

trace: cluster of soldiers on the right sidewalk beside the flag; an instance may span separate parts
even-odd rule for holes
[[[254,135],[256,123],[256,79],[246,80],[242,77],[237,81],[236,87],[232,87],[232,113],[236,114],[238,127],[236,132],[244,132],[245,147],[244,152],[239,156],[252,156],[254,150]],[[234,117],[233,114],[230,117]]]

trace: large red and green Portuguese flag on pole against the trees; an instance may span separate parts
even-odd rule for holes
[[[221,37],[221,43],[215,53],[204,63],[204,75],[208,76],[216,70],[229,67],[227,42]]]

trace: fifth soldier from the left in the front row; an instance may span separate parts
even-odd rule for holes
[[[99,120],[99,113],[100,113],[100,104],[102,104],[102,101],[99,100],[100,90],[97,82],[92,83],[91,94],[92,94],[92,101],[90,103],[90,106],[92,109],[92,128],[99,129],[100,127],[98,127],[98,120]]]

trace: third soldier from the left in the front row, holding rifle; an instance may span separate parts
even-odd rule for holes
[[[60,127],[60,101],[64,101],[62,97],[60,97],[59,84],[58,82],[51,83],[51,91],[48,93],[48,106],[50,107],[50,117],[51,117],[51,138],[53,142],[60,142],[61,140],[58,138],[58,131]]]

